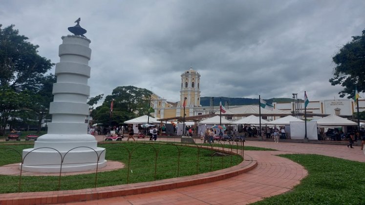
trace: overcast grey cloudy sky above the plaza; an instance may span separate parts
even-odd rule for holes
[[[332,56],[365,28],[364,0],[1,0],[0,24],[59,62],[61,36],[81,17],[91,40],[91,96],[117,86],[178,101],[180,75],[204,96],[338,97]],[[54,68],[51,70],[54,72]]]

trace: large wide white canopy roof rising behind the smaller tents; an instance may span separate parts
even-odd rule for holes
[[[249,116],[249,115],[259,115],[259,107],[258,105],[244,105],[241,107],[228,109],[224,115],[241,115],[241,116]],[[291,111],[289,110],[268,110],[261,108],[261,116],[287,116],[291,115]]]

